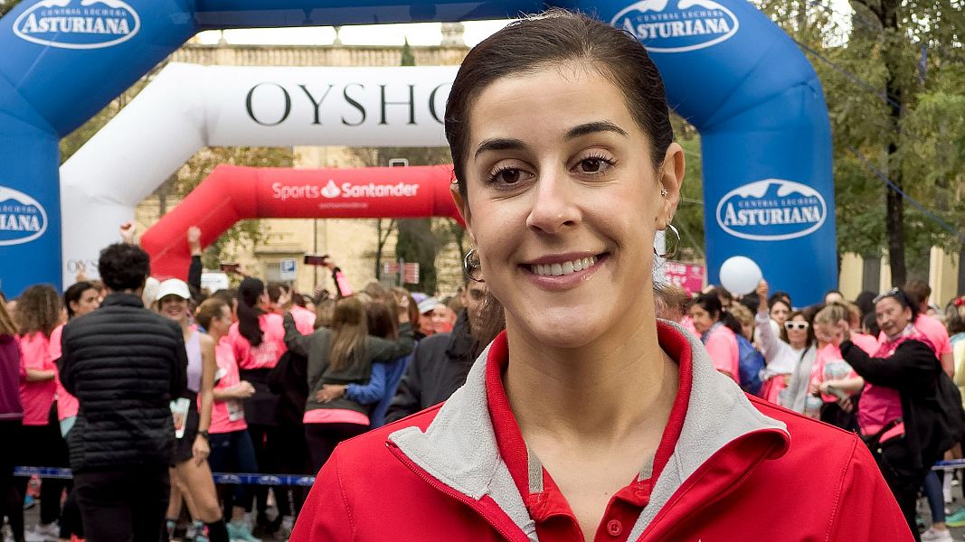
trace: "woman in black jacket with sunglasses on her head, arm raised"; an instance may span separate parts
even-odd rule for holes
[[[929,405],[937,401],[942,367],[928,339],[915,329],[918,308],[901,289],[876,297],[874,312],[885,334],[878,351],[869,356],[851,340],[848,322],[839,321],[829,339],[841,348],[844,361],[860,376],[825,381],[820,391],[862,393],[858,403],[862,438],[918,539],[918,492],[925,475],[945,451],[937,444],[942,438],[935,431],[937,422],[928,421],[935,420]]]

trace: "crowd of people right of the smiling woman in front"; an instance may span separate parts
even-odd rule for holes
[[[939,308],[915,280],[854,301],[830,290],[797,308],[769,287],[761,281],[733,299],[720,286],[693,297],[664,286],[658,304],[745,392],[861,435],[911,528],[924,530],[924,541],[951,540],[948,527],[965,526],[965,508],[946,517],[953,473],[941,480],[932,466],[962,458],[965,296]],[[931,507],[927,529],[916,514],[920,493]]]

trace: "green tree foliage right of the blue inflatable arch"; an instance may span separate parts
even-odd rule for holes
[[[885,226],[886,184],[859,155],[960,229],[965,224],[961,1],[851,0],[850,18],[835,14],[826,0],[756,3],[801,45],[821,80],[834,138],[839,250],[881,256],[889,235],[896,235]],[[902,224],[899,242],[907,249],[909,275],[921,272],[922,255],[931,245],[950,252],[962,247],[959,234],[907,200]]]

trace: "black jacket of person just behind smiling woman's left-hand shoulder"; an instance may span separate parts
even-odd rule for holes
[[[469,317],[465,311],[459,312],[452,333],[439,333],[419,341],[385,415],[386,423],[448,399],[466,383],[478,350],[479,341],[469,335]]]

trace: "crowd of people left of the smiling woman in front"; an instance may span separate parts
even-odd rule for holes
[[[479,354],[481,284],[353,292],[328,260],[334,294],[243,268],[237,288],[208,292],[200,230],[186,282],[149,277],[132,229],[122,237],[99,280],[0,303],[0,439],[22,443],[2,447],[6,539],[285,540],[305,488],[212,473],[315,474],[345,439],[445,400]],[[72,469],[42,478],[31,528],[15,465]]]

